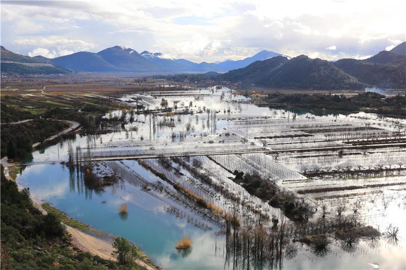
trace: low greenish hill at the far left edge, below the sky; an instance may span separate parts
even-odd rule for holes
[[[1,70],[4,74],[61,74],[69,71],[41,59],[13,53],[1,46]]]

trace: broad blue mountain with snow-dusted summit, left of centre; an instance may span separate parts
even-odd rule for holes
[[[121,71],[164,71],[161,67],[145,59],[137,51],[123,46],[107,48],[98,52],[97,55]]]

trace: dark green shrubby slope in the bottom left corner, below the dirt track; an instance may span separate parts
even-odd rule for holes
[[[47,215],[32,205],[28,189],[20,192],[15,182],[6,179],[2,167],[2,269],[145,269],[127,261],[140,253],[131,245],[131,252],[125,253],[126,259],[118,263],[73,247],[61,223],[62,212],[45,207],[49,211]],[[64,217],[62,221],[67,219]],[[73,221],[69,222],[73,224]],[[124,254],[128,241],[121,239],[117,243],[120,245],[113,245],[117,254]]]

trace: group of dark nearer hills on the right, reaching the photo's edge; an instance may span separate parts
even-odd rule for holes
[[[406,89],[406,42],[364,60],[330,62],[300,55],[256,61],[214,77],[269,88],[292,89]]]

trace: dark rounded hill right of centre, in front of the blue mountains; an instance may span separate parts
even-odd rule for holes
[[[329,61],[311,59],[306,55],[290,60],[279,56],[254,62],[245,68],[229,71],[220,78],[231,78],[234,82],[244,78],[245,83],[271,88],[324,90],[363,89],[367,86]]]

